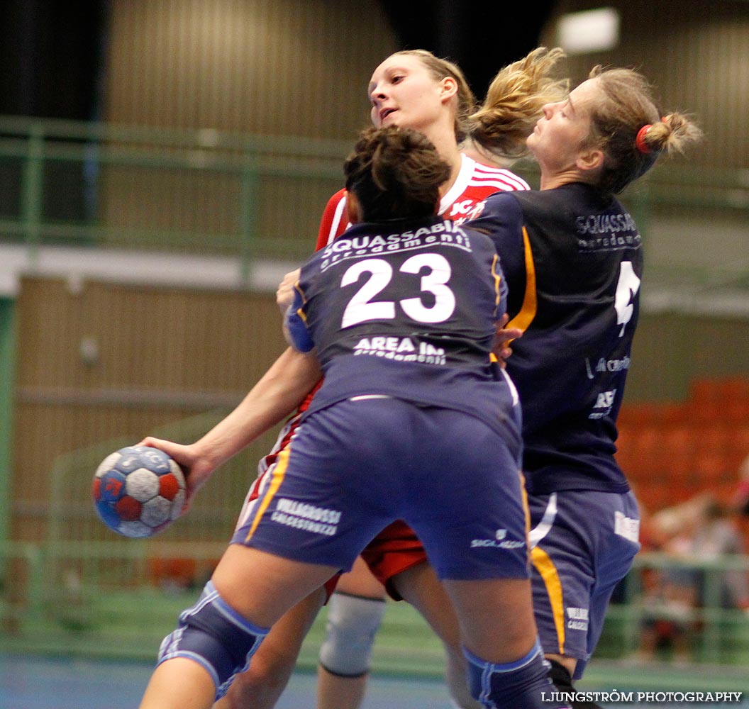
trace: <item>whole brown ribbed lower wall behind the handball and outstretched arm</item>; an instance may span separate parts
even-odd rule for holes
[[[97,282],[71,289],[64,281],[24,279],[13,537],[45,537],[58,456],[115,439],[132,444],[148,434],[181,442],[201,436],[285,348],[279,320],[272,295]],[[83,351],[93,344],[97,357],[82,356],[82,341]],[[224,540],[275,436],[263,436],[216,475],[196,505],[196,526],[169,534]],[[91,476],[106,452],[88,454],[67,472],[73,526],[91,520]],[[98,524],[94,531],[109,534]]]

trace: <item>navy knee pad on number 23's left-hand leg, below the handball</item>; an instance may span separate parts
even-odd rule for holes
[[[218,699],[234,675],[247,669],[267,633],[267,628],[255,627],[222,600],[209,581],[198,603],[180,615],[177,630],[163,640],[158,662],[173,657],[194,660],[213,679]]]

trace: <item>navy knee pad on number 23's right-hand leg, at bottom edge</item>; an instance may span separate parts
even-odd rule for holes
[[[554,685],[547,676],[548,663],[541,645],[512,663],[489,663],[464,650],[468,660],[471,696],[485,707],[496,709],[569,709],[555,702]]]

